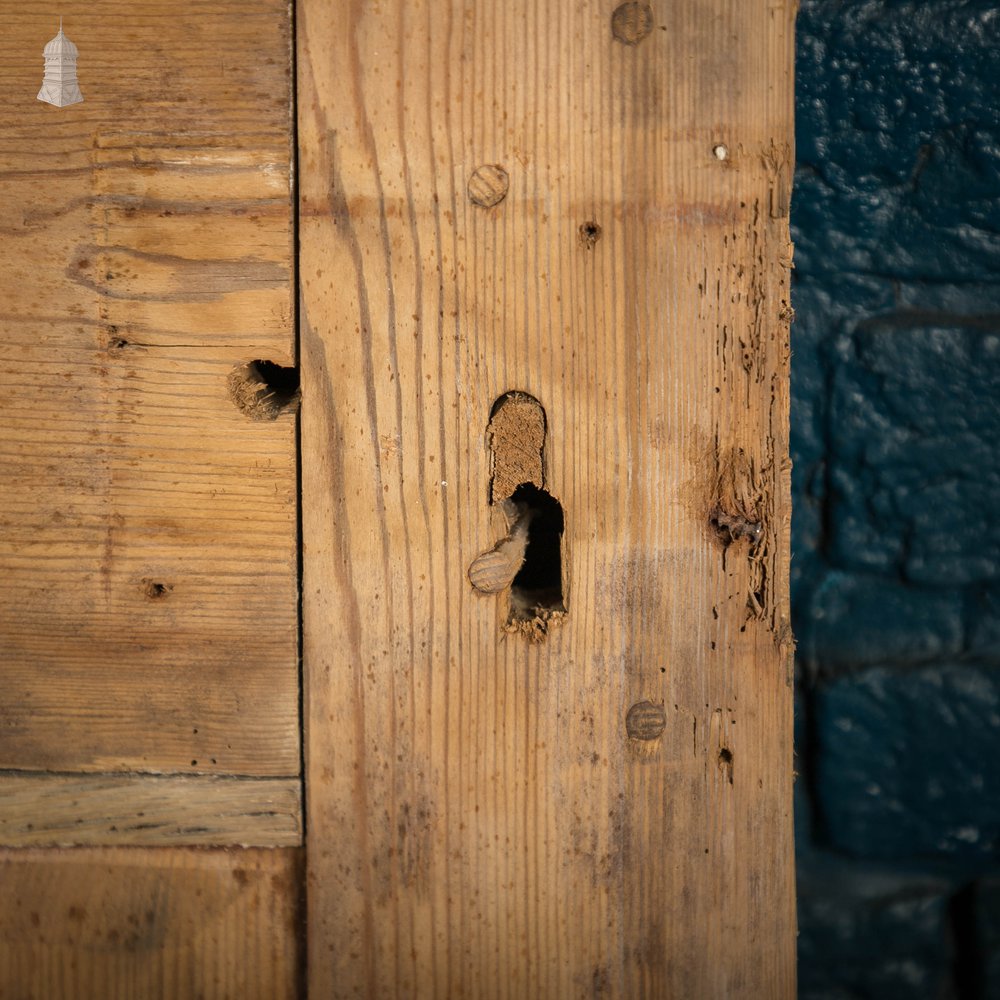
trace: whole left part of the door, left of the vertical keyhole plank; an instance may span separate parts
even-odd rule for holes
[[[289,8],[2,20],[0,996],[296,996]]]

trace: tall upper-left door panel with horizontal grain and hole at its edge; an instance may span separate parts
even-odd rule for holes
[[[295,417],[226,387],[294,363],[288,5],[3,25],[0,767],[295,775]]]

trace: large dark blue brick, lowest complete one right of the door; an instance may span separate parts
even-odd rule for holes
[[[815,695],[816,794],[858,857],[1000,858],[1000,670],[876,667]]]

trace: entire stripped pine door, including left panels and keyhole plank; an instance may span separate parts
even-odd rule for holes
[[[6,2],[0,997],[790,1000],[793,6]]]

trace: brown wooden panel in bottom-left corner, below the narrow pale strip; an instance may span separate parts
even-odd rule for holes
[[[0,996],[293,1000],[301,855],[0,851]]]

